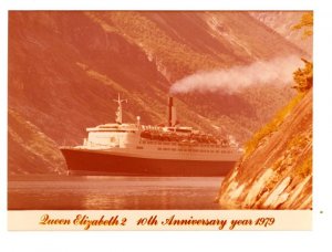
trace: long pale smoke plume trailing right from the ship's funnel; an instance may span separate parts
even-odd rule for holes
[[[292,73],[300,65],[300,57],[291,55],[270,61],[257,61],[249,65],[198,72],[175,82],[169,92],[176,94],[222,91],[232,94],[251,85],[286,85],[292,82]]]

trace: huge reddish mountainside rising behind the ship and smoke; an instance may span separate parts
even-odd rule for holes
[[[29,122],[43,136],[40,144],[52,145],[61,158],[60,145],[77,145],[86,127],[114,120],[118,93],[128,99],[125,122],[141,115],[143,124],[160,124],[174,81],[290,54],[303,52],[247,12],[10,11],[10,116]],[[293,96],[273,84],[237,94],[178,95],[179,120],[245,141]],[[15,120],[9,129],[15,130]],[[10,132],[9,169],[49,172],[54,160],[21,151],[27,146],[17,139]],[[12,169],[21,164],[24,170]]]

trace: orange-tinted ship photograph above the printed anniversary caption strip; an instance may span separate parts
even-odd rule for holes
[[[311,211],[313,19],[10,10],[8,211]]]

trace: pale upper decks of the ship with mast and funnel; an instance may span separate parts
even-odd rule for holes
[[[104,124],[86,128],[89,135],[82,146],[75,149],[93,150],[101,154],[118,156],[179,159],[179,160],[225,160],[239,158],[241,151],[230,139],[217,139],[212,135],[203,134],[191,127],[178,126],[173,98],[168,105],[168,126],[141,125],[122,122],[122,103],[116,101],[118,108],[115,124]]]

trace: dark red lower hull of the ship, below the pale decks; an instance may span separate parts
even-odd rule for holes
[[[61,149],[70,174],[152,176],[152,177],[221,177],[236,161],[200,161],[149,159],[98,154],[91,150]]]

